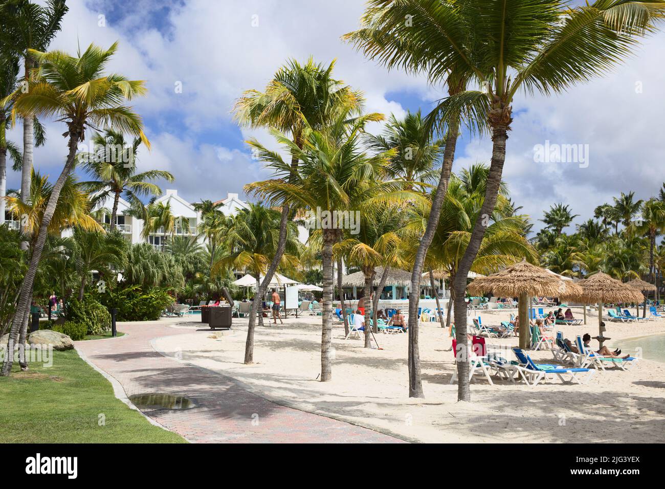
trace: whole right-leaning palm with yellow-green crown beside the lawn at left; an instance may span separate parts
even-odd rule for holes
[[[20,323],[29,309],[29,301],[39,259],[46,242],[47,230],[55,214],[58,199],[63,190],[65,180],[74,166],[74,156],[78,142],[84,138],[88,126],[112,126],[123,132],[136,134],[144,140],[146,146],[150,142],[143,134],[143,123],[130,107],[122,105],[138,94],[144,94],[144,82],[130,81],[122,75],[104,76],[103,72],[109,59],[117,49],[114,43],[109,49],[101,49],[90,45],[78,57],[71,57],[62,51],[41,53],[29,50],[28,55],[39,65],[34,79],[29,81],[27,92],[17,90],[12,97],[15,99],[12,117],[20,115],[33,118],[37,115],[56,116],[67,125],[66,135],[69,136],[69,153],[65,166],[58,177],[49,201],[44,210],[39,236],[35,240],[30,265],[23,285],[17,313],[12,321],[10,337],[16,341]],[[7,99],[0,104],[7,103]],[[23,197],[23,196],[22,196]],[[11,372],[11,355],[7,355],[0,375]]]

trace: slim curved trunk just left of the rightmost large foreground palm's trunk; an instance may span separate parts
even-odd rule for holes
[[[418,245],[418,252],[414,260],[414,267],[411,272],[411,289],[409,294],[409,347],[408,347],[408,365],[409,365],[409,397],[425,397],[422,392],[422,381],[420,379],[420,350],[418,349],[418,300],[420,299],[420,279],[422,277],[422,267],[425,262],[428,249],[432,244],[436,226],[441,216],[441,208],[448,192],[448,180],[455,158],[455,146],[457,144],[458,130],[451,128],[446,136],[446,150],[444,150],[444,164],[441,167],[441,176],[436,186],[436,194],[432,199],[432,208],[430,217],[427,220],[425,233]]]

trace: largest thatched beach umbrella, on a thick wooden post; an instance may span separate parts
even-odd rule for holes
[[[519,297],[519,347],[525,349],[529,343],[527,297],[557,296],[561,291],[561,279],[523,259],[497,273],[473,280],[468,288],[469,292],[476,295],[492,292],[506,297]]]

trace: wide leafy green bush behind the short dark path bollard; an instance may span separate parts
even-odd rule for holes
[[[116,307],[117,321],[156,321],[162,311],[174,303],[166,289],[154,287],[144,291],[140,285],[130,285],[97,295],[108,309]]]

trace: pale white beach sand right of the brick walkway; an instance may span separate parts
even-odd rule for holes
[[[483,311],[483,323],[507,318],[505,311]],[[576,315],[577,314],[576,311]],[[167,355],[233,377],[251,391],[284,405],[376,428],[422,442],[663,442],[665,441],[665,363],[641,359],[628,372],[599,371],[588,385],[553,381],[529,387],[509,381],[491,386],[474,376],[471,403],[458,403],[449,385],[451,340],[438,323],[420,328],[420,362],[425,399],[408,398],[406,334],[377,335],[383,350],[344,340],[334,323],[332,381],[321,383],[321,317],[289,318],[285,325],[258,328],[253,365],[243,365],[247,319],[233,319],[235,334],[201,330],[154,341]],[[470,319],[469,319],[470,321]],[[606,323],[607,344],[665,333],[665,320]],[[557,326],[574,339],[598,334],[598,319],[587,325]],[[199,329],[199,331],[196,331]],[[516,346],[517,338],[489,339],[489,345]],[[593,340],[595,344],[595,340]],[[541,363],[555,363],[549,351],[530,352]],[[634,351],[624,351],[634,353]]]

